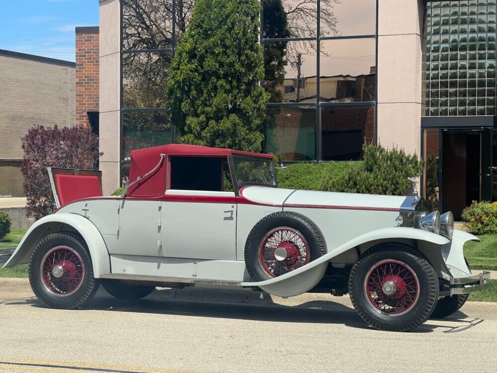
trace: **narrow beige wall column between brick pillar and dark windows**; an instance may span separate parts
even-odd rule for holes
[[[100,0],[100,170],[104,194],[119,187],[120,6]]]

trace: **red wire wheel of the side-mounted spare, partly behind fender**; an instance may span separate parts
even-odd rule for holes
[[[262,239],[258,249],[258,258],[267,276],[274,278],[309,263],[309,244],[296,229],[274,228]]]

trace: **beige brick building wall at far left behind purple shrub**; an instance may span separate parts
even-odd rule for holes
[[[0,188],[22,195],[21,137],[37,124],[74,126],[75,67],[0,53]]]

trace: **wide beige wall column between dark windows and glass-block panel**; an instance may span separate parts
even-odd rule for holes
[[[381,0],[378,12],[378,142],[420,155],[421,0]]]

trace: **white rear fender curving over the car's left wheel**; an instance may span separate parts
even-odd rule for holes
[[[99,278],[100,275],[109,274],[110,257],[102,235],[88,219],[71,213],[52,214],[36,221],[26,232],[3,268],[28,263],[31,252],[38,242],[50,233],[68,230],[64,228],[64,225],[71,226],[72,230],[77,231],[86,242],[93,264],[93,276]]]

